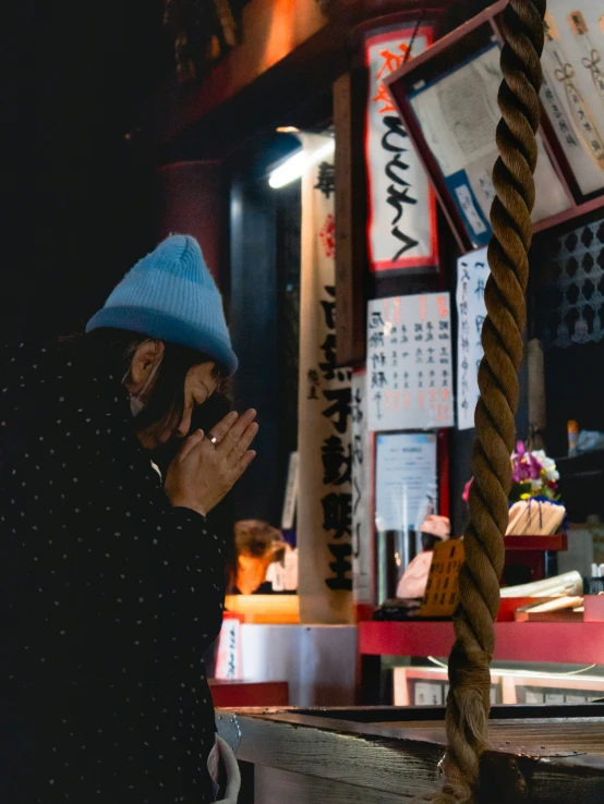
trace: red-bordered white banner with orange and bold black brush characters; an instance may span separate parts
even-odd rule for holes
[[[365,41],[370,74],[365,123],[367,241],[374,271],[438,265],[436,199],[384,84],[404,62],[412,36],[413,26],[376,34]],[[420,27],[412,56],[431,44],[432,28]]]

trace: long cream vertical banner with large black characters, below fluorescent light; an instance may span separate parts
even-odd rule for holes
[[[309,155],[326,141],[302,136]],[[315,623],[353,620],[351,371],[336,367],[333,178],[331,156],[302,179],[297,541],[300,617]]]

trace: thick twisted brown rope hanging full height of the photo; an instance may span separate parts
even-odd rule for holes
[[[497,196],[491,209],[491,277],[485,289],[484,357],[479,369],[474,482],[464,535],[466,563],[459,577],[456,642],[449,658],[445,782],[435,804],[476,801],[480,758],[488,739],[493,622],[499,608],[504,567],[532,240],[544,14],[545,0],[510,0],[503,17],[506,45],[502,51],[502,120],[497,126],[500,156],[493,171]]]

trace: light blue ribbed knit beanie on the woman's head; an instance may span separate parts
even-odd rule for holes
[[[90,318],[86,332],[101,327],[190,346],[213,357],[229,375],[237,370],[222,299],[197,241],[189,234],[170,235],[136,263]]]

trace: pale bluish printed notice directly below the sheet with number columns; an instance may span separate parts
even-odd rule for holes
[[[377,436],[375,471],[378,532],[418,531],[426,513],[437,513],[436,434]]]

